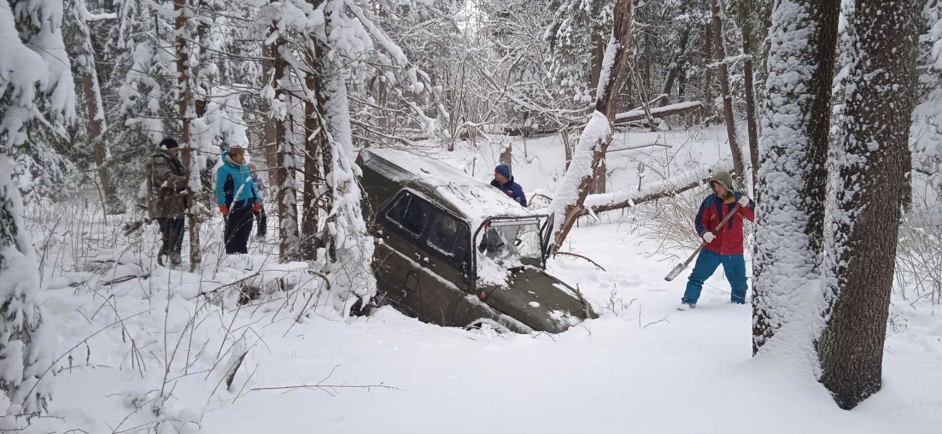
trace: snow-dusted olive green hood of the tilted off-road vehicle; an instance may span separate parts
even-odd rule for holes
[[[488,305],[541,332],[565,332],[587,316],[598,318],[576,289],[536,267],[514,269],[509,286],[484,292]]]

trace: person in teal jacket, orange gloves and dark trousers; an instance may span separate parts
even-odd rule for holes
[[[223,151],[222,164],[216,172],[216,203],[225,216],[223,240],[226,255],[249,253],[252,213],[262,207],[262,198],[245,164],[245,149],[232,147]]]

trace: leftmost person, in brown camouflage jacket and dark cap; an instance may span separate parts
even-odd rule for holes
[[[168,256],[173,266],[180,264],[183,247],[184,211],[187,209],[187,177],[177,159],[179,145],[165,138],[154,154],[144,161],[147,182],[148,214],[160,225],[161,246],[157,263],[164,265]]]

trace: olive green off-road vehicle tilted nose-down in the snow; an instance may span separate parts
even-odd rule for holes
[[[597,317],[545,271],[550,216],[405,151],[364,149],[357,163],[377,240],[375,304],[432,324],[517,333],[560,333]]]

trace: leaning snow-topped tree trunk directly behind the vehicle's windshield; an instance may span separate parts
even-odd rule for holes
[[[569,231],[576,225],[579,211],[593,182],[593,175],[605,158],[611,143],[612,121],[618,105],[618,91],[627,77],[627,59],[631,51],[632,11],[631,0],[618,0],[614,8],[614,28],[609,43],[615,45],[614,58],[606,76],[607,83],[600,85],[601,95],[595,101],[595,113],[583,128],[579,143],[565,175],[557,184],[557,194],[549,209],[557,215],[559,229],[556,231],[556,246],[560,246]],[[608,51],[608,50],[607,50]]]

